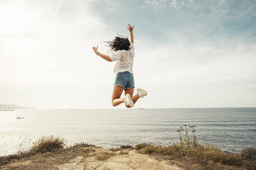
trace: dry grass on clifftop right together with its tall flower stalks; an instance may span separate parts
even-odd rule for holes
[[[224,152],[213,145],[201,145],[196,140],[195,127],[192,129],[193,139],[189,139],[186,125],[177,132],[180,133],[181,142],[170,146],[153,146],[138,144],[135,149],[143,154],[167,156],[170,160],[186,160],[186,169],[194,169],[192,164],[199,164],[201,169],[256,169],[256,148],[250,147],[241,150],[241,153]],[[184,130],[183,130],[184,128]],[[182,133],[184,132],[184,133]],[[229,166],[229,167],[226,167]],[[231,167],[233,166],[233,167]],[[200,168],[197,168],[200,169]]]

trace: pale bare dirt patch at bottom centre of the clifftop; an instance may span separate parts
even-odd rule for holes
[[[118,154],[105,161],[98,161],[94,157],[84,159],[83,156],[70,160],[58,166],[59,170],[118,170],[118,169],[162,169],[180,170],[176,165],[171,165],[167,161],[159,161],[145,154],[136,153],[135,150],[129,154]]]

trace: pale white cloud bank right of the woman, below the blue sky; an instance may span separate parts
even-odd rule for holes
[[[215,42],[178,35],[173,43],[139,41],[136,82],[150,94],[150,104],[142,103],[147,107],[152,103],[157,107],[254,106],[255,47],[241,43],[235,50],[233,46],[221,48]]]

